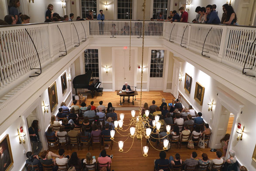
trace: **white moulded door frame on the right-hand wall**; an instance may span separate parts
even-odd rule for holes
[[[213,118],[213,123],[212,125],[216,125],[216,127],[213,127],[212,129],[212,137],[211,137],[211,148],[221,148],[221,145],[218,145],[216,142],[216,137],[217,137],[217,131],[218,131],[218,124],[219,124],[219,120],[220,120],[220,116],[221,116],[221,109],[222,106],[224,106],[226,109],[228,109],[228,111],[230,113],[234,114],[234,121],[233,121],[233,125],[232,125],[232,130],[230,133],[230,139],[229,139],[229,143],[228,143],[228,149],[227,151],[232,149],[232,144],[233,141],[235,139],[235,132],[236,132],[236,127],[237,127],[237,120],[240,116],[240,113],[242,111],[242,108],[244,107],[244,105],[239,102],[238,100],[236,100],[234,97],[232,97],[231,95],[229,95],[228,93],[226,93],[225,91],[223,91],[222,89],[220,89],[219,87],[217,87],[217,102],[216,102],[216,107],[215,107],[215,111],[214,111],[214,118]],[[227,120],[228,122],[228,120]],[[228,153],[226,154],[226,159],[228,157]]]

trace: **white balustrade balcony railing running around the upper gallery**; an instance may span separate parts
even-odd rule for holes
[[[86,38],[142,37],[142,26],[143,21],[76,21],[0,27],[0,88],[38,68],[26,30],[44,63],[66,55]],[[246,62],[251,68],[247,72],[256,73],[255,27],[145,21],[145,38],[164,38],[240,71]]]

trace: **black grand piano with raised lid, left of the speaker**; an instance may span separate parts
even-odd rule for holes
[[[93,75],[93,71],[89,70],[86,72],[86,74],[77,75],[73,79],[73,88],[74,89],[89,89],[92,95],[92,98],[94,97],[95,91],[100,87],[100,80],[98,79],[91,79]],[[76,92],[77,95],[77,92]]]

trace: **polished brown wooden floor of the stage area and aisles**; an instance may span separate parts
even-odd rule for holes
[[[138,97],[138,96],[137,96]],[[142,104],[147,102],[149,105],[152,103],[152,99],[156,100],[156,105],[161,105],[161,99],[165,98],[167,103],[172,102],[172,99],[174,98],[172,94],[170,93],[165,93],[161,91],[150,91],[150,92],[142,92]],[[139,99],[139,98],[137,98]],[[103,96],[96,96],[93,99],[88,97],[86,100],[86,104],[90,104],[90,101],[94,101],[95,106],[98,106],[99,101],[102,100],[104,102],[103,105],[107,106],[108,102],[112,102],[114,107],[119,107],[119,100],[120,97],[116,95],[116,92],[104,92]],[[125,103],[123,105],[124,107],[132,107],[131,103]],[[135,106],[139,106],[139,102],[135,102]],[[125,125],[128,125],[129,119],[131,119],[131,112],[128,110],[116,110],[116,113],[118,114],[118,119],[119,119],[119,114],[120,113],[125,113]],[[138,115],[138,111],[136,111],[136,116]],[[124,126],[124,129],[127,128]],[[128,130],[129,131],[129,130]],[[121,132],[121,131],[119,131]],[[124,135],[127,135],[127,133],[122,133]],[[118,135],[116,132],[115,134],[115,141],[123,140],[125,141],[127,137],[122,137],[121,135]],[[129,138],[125,143],[124,143],[124,152],[129,149],[129,147],[132,144],[132,139]],[[142,139],[142,146],[145,146],[146,140],[145,138]],[[101,150],[104,149],[104,147],[101,147]],[[153,161],[154,159],[159,158],[159,151],[153,149],[152,147],[149,147],[149,152],[148,152],[148,157],[143,157],[142,155],[142,147],[141,147],[141,141],[137,140],[135,138],[134,144],[131,147],[131,150],[128,153],[121,153],[118,151],[119,147],[117,143],[114,143],[113,149],[107,149],[107,154],[114,155],[114,158],[112,159],[112,164],[111,164],[111,170],[114,169],[114,171],[136,171],[136,170],[141,170],[141,171],[153,171],[154,164]],[[159,149],[161,149],[159,147]],[[52,150],[52,149],[51,149]],[[66,150],[66,148],[65,148]],[[89,152],[96,156],[96,158],[99,156],[100,151],[99,146],[95,147],[94,150],[92,150],[92,147],[90,147]],[[175,156],[176,153],[179,153],[181,156],[182,160],[185,160],[187,158],[190,158],[190,155],[192,151],[196,151],[198,154],[198,157],[201,157],[202,153],[208,154],[208,157],[210,159],[214,159],[216,157],[215,152],[210,152],[211,149],[200,149],[198,150],[191,150],[186,147],[186,145],[183,145],[180,148],[176,148],[176,145],[173,144],[171,149],[166,152],[166,157],[169,158],[170,155]],[[57,153],[57,150],[52,150],[53,152]],[[86,153],[88,152],[87,147],[84,147],[83,150],[77,150],[77,147],[73,147],[72,150],[66,150],[65,154],[71,155],[72,152],[76,151],[78,156],[80,158],[85,158]]]

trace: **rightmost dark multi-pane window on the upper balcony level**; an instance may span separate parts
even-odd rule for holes
[[[156,17],[159,15],[159,13],[162,12],[163,17],[166,20],[167,7],[168,7],[168,0],[154,0],[154,2],[153,2],[153,18],[156,19]]]

